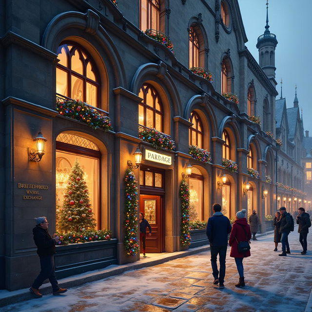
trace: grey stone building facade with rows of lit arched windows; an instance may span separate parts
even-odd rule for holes
[[[1,5],[0,288],[27,287],[38,272],[33,218],[47,216],[55,232],[75,159],[85,171],[97,228],[111,230],[114,239],[58,246],[59,277],[139,260],[139,254],[129,257],[124,250],[124,175],[137,148],[143,153],[134,170],[139,210],[153,224],[149,252],[185,249],[179,184],[189,164],[187,181],[200,221],[219,202],[230,218],[241,208],[255,209],[265,231],[265,215],[276,205],[276,152],[284,160],[278,166],[287,168],[289,162],[300,188],[302,167],[284,150],[300,141],[299,130],[282,152],[273,138],[283,136],[275,129],[276,36],[267,21],[258,38],[260,66],[245,47],[237,0],[119,0],[117,5],[4,0]],[[190,67],[209,69],[213,81]],[[236,94],[239,103],[227,94]],[[76,117],[59,114],[59,98],[87,102],[92,114],[110,118],[113,130],[94,129],[79,119],[81,108]],[[151,128],[174,140],[175,148],[156,149],[140,135]],[[39,132],[46,138],[44,155],[29,161]],[[211,160],[192,157],[189,145],[209,151]],[[226,168],[229,160],[236,171]],[[27,197],[32,189],[37,193]]]

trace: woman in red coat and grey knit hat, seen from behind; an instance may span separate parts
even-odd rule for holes
[[[250,256],[249,250],[244,254],[240,254],[238,252],[238,242],[249,241],[252,238],[250,227],[247,223],[245,215],[246,209],[242,209],[236,213],[236,220],[232,226],[229,240],[229,245],[231,246],[230,257],[234,257],[239,274],[239,282],[235,285],[236,287],[245,286],[243,258]]]

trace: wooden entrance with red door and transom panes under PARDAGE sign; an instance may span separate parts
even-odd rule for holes
[[[152,235],[146,235],[146,253],[164,251],[164,193],[164,171],[141,167],[140,212],[152,228]]]

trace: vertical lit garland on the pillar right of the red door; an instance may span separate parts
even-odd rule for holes
[[[185,178],[182,178],[179,190],[181,206],[181,235],[180,242],[182,246],[191,244],[190,234],[190,189]]]

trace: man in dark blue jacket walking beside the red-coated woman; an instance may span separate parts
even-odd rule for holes
[[[221,213],[221,205],[214,204],[214,214],[208,219],[206,234],[210,243],[211,267],[215,278],[214,285],[224,288],[225,258],[228,247],[228,234],[231,233],[231,223],[228,217]],[[216,264],[219,255],[220,271]]]

